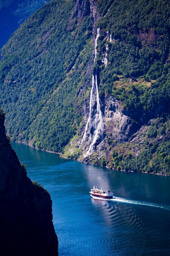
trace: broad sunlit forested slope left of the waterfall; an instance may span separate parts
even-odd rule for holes
[[[78,95],[93,50],[92,20],[87,13],[71,22],[73,7],[57,0],[34,13],[3,47],[0,63],[8,134],[56,152],[82,119]]]

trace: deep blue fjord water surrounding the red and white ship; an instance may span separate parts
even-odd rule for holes
[[[170,177],[112,171],[12,143],[53,201],[59,255],[170,255]],[[118,199],[95,200],[96,185]]]

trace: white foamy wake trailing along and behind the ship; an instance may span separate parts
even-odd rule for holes
[[[122,202],[122,203],[127,203],[127,204],[146,205],[146,206],[157,207],[157,208],[161,208],[161,209],[170,211],[169,206],[166,206],[166,205],[164,206],[161,204],[154,204],[154,203],[148,203],[148,202],[142,202],[142,201],[136,201],[136,200],[127,200],[127,199],[119,198],[119,197],[114,197],[112,199],[98,198],[93,195],[91,195],[91,197],[94,199],[98,199],[98,200],[106,200],[106,201],[110,201],[110,202]]]

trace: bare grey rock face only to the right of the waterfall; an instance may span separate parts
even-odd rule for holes
[[[121,107],[116,99],[111,96],[104,98],[104,134],[101,136],[94,148],[91,156],[81,159],[84,163],[99,164],[100,159],[104,157],[106,161],[110,160],[110,149],[115,145],[128,139],[138,130],[139,124],[131,117],[123,114]],[[86,150],[86,149],[84,149]],[[84,152],[85,155],[85,152]],[[99,161],[97,162],[98,159]]]

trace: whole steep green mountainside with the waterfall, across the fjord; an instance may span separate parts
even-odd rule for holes
[[[13,140],[118,170],[169,174],[168,0],[53,0],[0,62]]]

